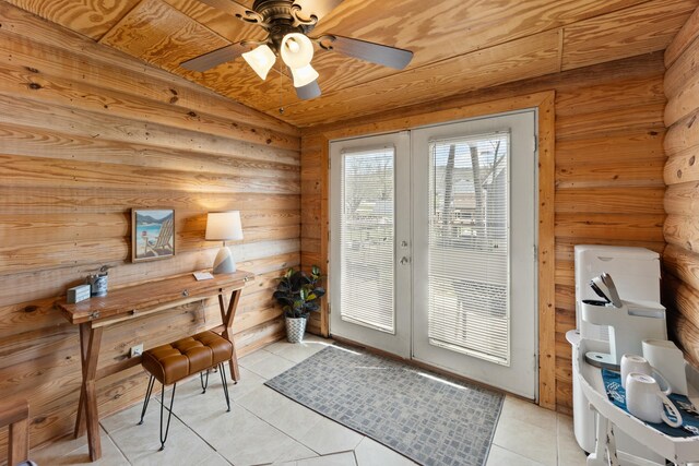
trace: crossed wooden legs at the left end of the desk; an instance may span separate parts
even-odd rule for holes
[[[75,419],[75,438],[82,437],[87,430],[87,445],[90,459],[102,457],[102,442],[99,439],[99,415],[97,413],[97,393],[95,374],[102,343],[102,327],[93,327],[92,323],[80,324],[80,348],[83,368],[83,383]]]

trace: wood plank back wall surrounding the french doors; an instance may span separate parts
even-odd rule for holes
[[[446,109],[554,89],[556,356],[542,363],[555,363],[556,409],[571,413],[571,351],[565,334],[576,326],[573,244],[641,246],[659,252],[665,246],[663,74],[663,57],[656,52],[304,129],[303,264],[328,260],[328,151],[319,145],[319,134],[398,130]],[[311,322],[311,328],[325,332],[327,316]]]

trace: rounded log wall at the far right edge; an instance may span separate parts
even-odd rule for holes
[[[664,304],[672,336],[699,362],[699,10],[665,51]]]

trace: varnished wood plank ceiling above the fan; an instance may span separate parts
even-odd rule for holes
[[[263,32],[198,0],[2,0],[297,127],[663,50],[699,0],[344,0],[332,32],[413,50],[403,71],[318,49],[323,95],[261,81],[242,59],[204,73],[183,60]],[[241,3],[251,7],[252,0]],[[280,108],[284,108],[283,113]]]

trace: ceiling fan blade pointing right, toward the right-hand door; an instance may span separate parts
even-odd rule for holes
[[[381,44],[368,43],[366,40],[352,39],[350,37],[328,34],[317,39],[320,47],[325,50],[337,51],[359,60],[402,70],[413,59],[413,52]]]

